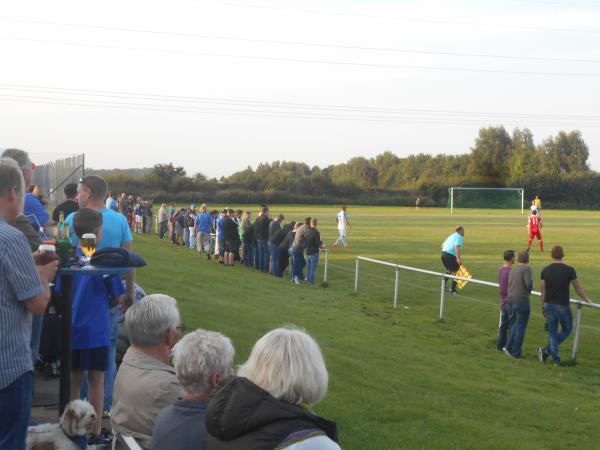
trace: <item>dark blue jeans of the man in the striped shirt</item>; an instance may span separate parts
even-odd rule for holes
[[[0,450],[25,450],[33,374],[27,372],[0,390]]]

